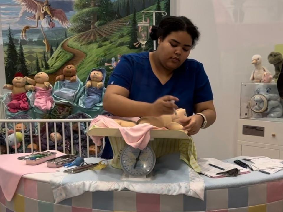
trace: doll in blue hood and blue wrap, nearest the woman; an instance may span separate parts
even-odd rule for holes
[[[85,87],[87,88],[87,97],[85,98],[85,107],[92,108],[93,105],[101,102],[101,96],[104,88],[103,73],[100,70],[93,70],[89,75]]]

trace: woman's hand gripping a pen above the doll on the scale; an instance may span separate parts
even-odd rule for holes
[[[177,97],[170,95],[158,98],[151,105],[151,115],[160,116],[165,114],[173,114],[174,109],[178,109],[178,106],[174,102],[178,102],[178,101],[179,99]]]

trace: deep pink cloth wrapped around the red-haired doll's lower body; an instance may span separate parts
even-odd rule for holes
[[[12,113],[16,113],[19,110],[28,110],[29,102],[27,101],[26,93],[11,94],[11,102],[7,104],[8,110]]]

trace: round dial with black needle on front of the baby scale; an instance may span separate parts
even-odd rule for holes
[[[134,177],[149,174],[155,165],[155,154],[151,147],[143,150],[127,145],[120,156],[121,167],[124,172]]]

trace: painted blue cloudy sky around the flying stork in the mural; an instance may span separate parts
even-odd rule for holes
[[[75,14],[75,11],[73,11],[72,3],[74,0],[55,0],[55,1],[49,1],[51,4],[51,7],[62,9],[65,11],[67,18],[70,20],[70,17]],[[11,29],[22,29],[23,26],[29,24],[29,25],[35,25],[35,21],[28,21],[25,19],[25,17],[30,16],[32,14],[29,14],[27,12],[24,13],[22,17],[19,17],[19,13],[22,9],[22,6],[15,3],[12,0],[0,0],[0,14],[1,14],[1,23],[2,23],[2,30],[8,29],[8,23],[10,23]],[[55,21],[55,27],[61,27],[61,25]]]

